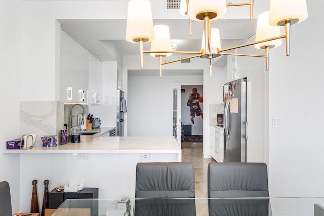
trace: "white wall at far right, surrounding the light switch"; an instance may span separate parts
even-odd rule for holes
[[[307,1],[308,18],[291,28],[290,56],[285,46],[271,50],[269,71],[270,195],[324,194],[324,79],[320,41],[323,1]],[[273,128],[272,117],[284,118]]]

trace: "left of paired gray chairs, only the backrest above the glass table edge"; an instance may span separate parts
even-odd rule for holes
[[[194,198],[192,163],[138,163],[135,198]]]

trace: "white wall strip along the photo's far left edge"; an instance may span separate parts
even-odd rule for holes
[[[15,10],[8,10],[14,8]],[[19,155],[4,155],[6,141],[20,138],[22,4],[0,1],[0,182],[9,182],[13,212],[19,210]],[[30,182],[31,183],[31,182]]]

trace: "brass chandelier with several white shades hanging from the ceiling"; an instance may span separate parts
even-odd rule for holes
[[[128,4],[126,40],[138,43],[140,46],[141,68],[144,68],[143,54],[159,58],[160,77],[162,65],[190,58],[209,59],[210,77],[212,76],[212,59],[221,55],[254,56],[266,59],[266,70],[269,70],[269,49],[281,45],[281,39],[286,39],[286,54],[290,55],[291,25],[304,21],[307,14],[306,0],[270,0],[270,10],[258,16],[255,42],[235,47],[221,49],[219,29],[211,28],[211,21],[226,14],[227,7],[250,6],[250,20],[253,19],[253,1],[250,3],[226,4],[226,0],[181,0],[180,14],[189,17],[190,35],[192,22],[204,22],[203,39],[200,51],[172,50],[169,27],[166,25],[153,26],[152,12],[148,0],[130,0]],[[261,1],[261,0],[260,0]],[[280,26],[285,26],[285,34],[281,35]],[[151,42],[150,50],[143,50],[143,43]],[[229,53],[241,47],[255,45],[264,49],[264,55]],[[162,62],[162,58],[175,54],[193,54],[192,56]]]

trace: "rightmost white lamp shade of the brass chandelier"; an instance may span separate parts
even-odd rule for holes
[[[298,22],[302,22],[307,16],[306,0],[271,0],[270,2],[270,25],[276,26],[279,22],[290,19],[298,19]]]

